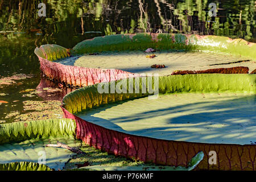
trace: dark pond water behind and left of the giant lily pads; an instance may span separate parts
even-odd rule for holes
[[[10,85],[0,81],[0,101],[9,102],[0,105],[0,121],[14,121],[6,115],[22,111],[23,101],[43,100],[20,93],[40,82],[34,49],[42,44],[72,48],[95,36],[134,32],[219,35],[256,42],[254,0],[47,0],[46,17],[38,16],[40,2],[0,0],[0,79],[34,75]],[[216,17],[208,14],[212,2],[217,5]]]

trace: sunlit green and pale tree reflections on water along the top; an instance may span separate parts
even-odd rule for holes
[[[44,41],[57,42],[61,32],[85,35],[128,32],[179,32],[224,35],[250,40],[255,36],[255,1],[218,1],[218,16],[208,16],[207,0],[47,0],[47,18],[37,16],[40,1],[0,1],[1,30],[41,29]],[[225,10],[221,10],[225,9]],[[82,17],[82,18],[81,18]],[[214,21],[214,22],[210,22]],[[67,38],[73,38],[68,36]],[[54,40],[55,39],[55,40]]]

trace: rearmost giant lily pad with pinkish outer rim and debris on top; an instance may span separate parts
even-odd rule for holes
[[[157,50],[153,59],[144,53],[149,47]],[[137,73],[171,75],[174,71],[232,67],[240,68],[230,73],[249,73],[256,68],[255,50],[255,43],[220,36],[125,34],[84,40],[72,49],[43,45],[35,53],[44,75],[69,86],[82,87]],[[163,68],[151,68],[152,65]]]

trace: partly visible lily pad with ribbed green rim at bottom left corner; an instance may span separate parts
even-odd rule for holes
[[[62,169],[76,153],[65,148],[46,147],[46,144],[56,144],[59,141],[70,147],[79,147],[80,142],[75,138],[75,129],[76,123],[72,119],[48,119],[0,125],[2,169],[16,167],[22,170],[27,165],[28,169],[31,168],[32,164],[22,164],[22,162],[43,163],[52,169]],[[40,167],[35,165],[32,166]],[[31,170],[35,169],[34,167]]]

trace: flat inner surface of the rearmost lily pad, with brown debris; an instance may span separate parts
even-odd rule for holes
[[[153,59],[147,55],[155,54]],[[193,51],[143,51],[101,52],[97,55],[83,55],[57,60],[64,65],[76,65],[86,68],[121,69],[132,73],[159,73],[170,75],[177,70],[205,70],[212,68],[249,67],[249,72],[256,68],[255,61],[245,61],[241,56],[221,53]],[[243,62],[240,62],[243,61]],[[166,68],[152,69],[151,65],[164,64]]]

